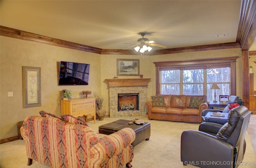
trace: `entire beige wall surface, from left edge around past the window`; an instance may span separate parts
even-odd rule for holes
[[[98,55],[3,36],[0,36],[0,42],[0,139],[16,136],[18,121],[22,121],[27,115],[39,115],[40,110],[60,116],[61,91],[64,88],[72,90],[73,98],[80,97],[79,94],[82,90],[91,90],[92,93],[101,94],[104,98],[103,109],[108,115],[108,84],[105,79],[116,76],[116,59],[118,58],[140,59],[140,74],[143,74],[144,78],[151,78],[148,83],[148,100],[156,92],[156,71],[153,62],[158,61],[238,56],[237,88],[242,87],[240,49],[145,55],[143,57],[141,55]],[[58,61],[90,64],[89,85],[58,86],[56,65]],[[41,67],[42,105],[40,107],[22,108],[22,66]],[[118,76],[118,78],[139,78],[139,76]],[[14,96],[8,97],[8,92],[13,92]],[[241,89],[237,89],[237,95],[242,96]]]

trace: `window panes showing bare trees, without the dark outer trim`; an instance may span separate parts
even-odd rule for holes
[[[207,100],[212,101],[214,100],[214,93],[213,90],[210,90],[210,87],[213,82],[216,82],[220,88],[219,90],[216,90],[217,95],[230,95],[229,67],[192,70],[161,70],[160,74],[161,94],[207,95]]]

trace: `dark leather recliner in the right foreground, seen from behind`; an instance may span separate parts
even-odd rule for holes
[[[228,113],[224,125],[204,122],[199,131],[186,130],[181,135],[181,161],[202,168],[236,168],[244,159],[244,136],[251,111],[240,105]]]

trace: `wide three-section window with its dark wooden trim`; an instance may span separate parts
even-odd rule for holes
[[[214,90],[210,88],[216,82],[220,88],[216,95],[236,95],[236,58],[154,63],[159,81],[156,94],[207,95],[207,100],[212,101]]]

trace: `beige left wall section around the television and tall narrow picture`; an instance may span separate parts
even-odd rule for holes
[[[100,55],[9,37],[0,38],[0,139],[16,136],[17,122],[28,115],[39,115],[40,110],[60,116],[61,91],[65,88],[72,90],[73,98],[78,98],[82,90],[101,92]],[[89,85],[58,86],[58,61],[90,64]],[[22,106],[22,66],[41,67],[40,107]],[[14,96],[8,97],[8,92],[13,92]]]

